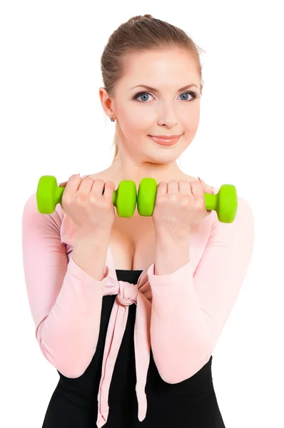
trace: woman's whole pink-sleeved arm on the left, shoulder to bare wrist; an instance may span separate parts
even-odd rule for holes
[[[108,240],[78,238],[68,263],[66,245],[61,243],[62,218],[60,207],[50,215],[39,213],[35,194],[26,201],[24,276],[41,352],[66,377],[78,377],[98,342]]]

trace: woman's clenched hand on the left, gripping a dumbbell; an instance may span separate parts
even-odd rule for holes
[[[114,221],[113,190],[114,183],[106,183],[97,178],[81,178],[71,175],[68,181],[60,183],[65,187],[61,206],[77,225],[78,233],[98,233],[102,230],[111,232]],[[104,190],[104,193],[103,193]]]

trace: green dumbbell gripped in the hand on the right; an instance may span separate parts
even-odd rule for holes
[[[157,183],[154,178],[142,178],[137,195],[140,215],[151,216],[156,200]],[[204,193],[206,210],[215,210],[221,223],[233,223],[238,209],[238,196],[232,184],[221,185],[217,195]]]

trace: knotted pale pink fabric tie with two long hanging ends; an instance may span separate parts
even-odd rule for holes
[[[107,266],[106,275],[108,275]],[[138,419],[142,421],[146,417],[147,399],[145,387],[151,350],[151,302],[146,295],[149,296],[151,287],[148,280],[145,280],[145,278],[145,275],[141,275],[136,285],[126,281],[118,281],[111,275],[109,275],[106,280],[106,288],[103,295],[116,295],[116,300],[113,303],[111,317],[108,322],[106,344],[103,352],[101,382],[98,387],[98,419],[96,422],[98,428],[103,427],[108,419],[108,392],[113,375],[113,368],[126,329],[128,307],[129,305],[133,305],[133,303],[137,305],[134,327],[134,347]]]

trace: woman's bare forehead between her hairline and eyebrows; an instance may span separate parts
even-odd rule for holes
[[[200,75],[196,59],[190,52],[182,49],[160,49],[128,54],[123,61],[120,85],[132,87],[139,83],[156,88],[165,85],[179,88],[188,83],[196,83],[199,87]]]

